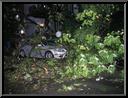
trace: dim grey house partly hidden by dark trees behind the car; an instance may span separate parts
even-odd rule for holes
[[[48,33],[49,30],[52,33],[57,32],[62,29],[62,24],[59,21],[54,21],[53,19],[48,20],[46,24],[45,18],[39,18],[31,16],[31,10],[35,10],[41,4],[24,4],[24,15],[25,15],[25,32],[26,35],[31,36],[38,33]],[[63,5],[63,4],[62,4]],[[71,14],[77,14],[79,12],[79,6],[77,4],[65,5]],[[34,9],[35,8],[35,9]]]

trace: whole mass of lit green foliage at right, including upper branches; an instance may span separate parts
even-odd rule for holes
[[[117,6],[87,6],[76,16],[76,20],[81,23],[80,28],[77,28],[75,32],[64,33],[62,39],[60,39],[62,43],[70,47],[68,48],[69,56],[73,56],[70,56],[68,60],[70,62],[72,59],[74,60],[71,65],[68,63],[68,66],[64,68],[63,75],[61,74],[62,77],[90,77],[102,72],[112,74],[115,71],[115,59],[123,57],[124,47],[119,32],[112,31],[108,33],[106,30],[104,32],[105,37],[96,33],[100,31],[100,29],[97,29],[101,27],[100,24],[109,22],[114,11],[119,10]],[[103,8],[100,9],[99,6],[103,6]]]

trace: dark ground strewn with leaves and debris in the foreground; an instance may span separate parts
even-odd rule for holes
[[[59,80],[59,76],[58,79],[57,75],[54,76],[52,67],[46,63],[42,64],[41,59],[36,60],[35,65],[30,64],[29,66],[25,66],[26,62],[24,63],[24,61],[25,58],[18,63],[18,66],[13,65],[13,70],[7,65],[4,67],[5,94],[124,94],[124,81],[119,79],[118,71],[113,75],[101,74],[90,79]],[[24,65],[20,65],[21,63]],[[65,66],[63,64],[61,66]],[[61,66],[58,67],[61,68]]]

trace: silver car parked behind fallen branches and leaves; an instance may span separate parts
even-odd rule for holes
[[[24,45],[20,48],[20,56],[35,58],[57,58],[63,59],[67,55],[67,50],[62,46],[57,46],[53,42],[45,42],[33,47],[32,45]]]

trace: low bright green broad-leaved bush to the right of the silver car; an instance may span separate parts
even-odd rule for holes
[[[108,34],[104,39],[93,34],[87,34],[84,37],[85,40],[82,40],[81,44],[75,42],[76,45],[71,46],[69,52],[72,51],[76,54],[76,58],[72,64],[67,63],[67,67],[62,72],[63,77],[89,78],[102,72],[113,74],[115,72],[115,58],[123,57],[124,54],[124,46],[121,44],[120,37],[111,34]],[[70,55],[73,57],[74,54]],[[69,62],[71,60],[72,58],[69,59]]]

